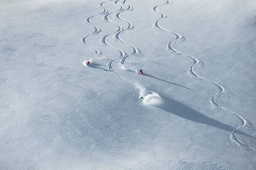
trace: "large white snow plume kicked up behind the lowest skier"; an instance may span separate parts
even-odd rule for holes
[[[136,83],[135,86],[139,89],[139,97],[144,98],[144,103],[147,105],[159,104],[162,99],[159,94],[156,92],[149,92],[144,86],[139,83]]]

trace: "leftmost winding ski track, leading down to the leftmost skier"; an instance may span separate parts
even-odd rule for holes
[[[103,6],[103,4],[106,3],[106,2],[108,2],[108,1],[110,1],[110,0],[104,1],[103,3],[100,3],[100,4],[99,4],[104,10],[103,10],[102,13],[100,13],[100,14],[98,14],[98,15],[102,15],[102,14],[108,12],[107,9],[104,8],[104,6]],[[91,18],[93,18],[93,17],[95,17],[95,16],[98,16],[98,15],[90,16],[90,17],[88,17],[88,18],[85,19],[85,22],[91,24],[91,25],[94,27],[94,31],[93,31],[93,33],[88,34],[87,36],[85,36],[85,37],[83,37],[83,38],[81,39],[81,42],[83,42],[83,43],[89,45],[89,46],[95,51],[95,56],[96,56],[96,57],[98,57],[99,55],[101,55],[102,52],[99,51],[98,49],[96,49],[95,47],[93,47],[91,44],[89,44],[89,43],[86,41],[86,39],[87,39],[88,37],[90,37],[91,35],[96,35],[96,34],[99,34],[99,33],[101,32],[101,29],[99,29],[99,27],[97,27],[96,25],[94,25],[94,24],[91,23],[91,21],[90,21]],[[87,60],[85,60],[85,61],[91,60],[92,58],[93,58],[93,57],[91,57],[91,58],[89,58],[89,59],[87,59]],[[83,61],[83,65],[86,65],[85,61]]]

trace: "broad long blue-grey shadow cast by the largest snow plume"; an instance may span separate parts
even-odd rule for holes
[[[224,123],[219,122],[218,120],[214,120],[213,118],[209,118],[206,115],[203,115],[200,112],[197,112],[196,110],[188,107],[187,105],[184,105],[180,102],[177,102],[173,99],[169,99],[167,97],[162,97],[163,101],[161,101],[158,104],[151,104],[154,107],[158,107],[162,110],[165,110],[166,112],[170,112],[174,115],[177,115],[181,118],[185,118],[187,120],[191,120],[193,122],[197,123],[203,123],[205,125],[213,126],[216,128],[223,129],[225,131],[232,132],[235,128],[229,125],[226,125]],[[248,135],[244,132],[237,131],[240,134],[244,134],[246,136],[253,137],[251,135]],[[253,137],[255,138],[255,137]]]

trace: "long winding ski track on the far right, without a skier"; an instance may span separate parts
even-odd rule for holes
[[[157,6],[155,6],[155,7],[152,8],[152,10],[153,10],[154,12],[160,13],[160,15],[161,15],[161,17],[160,17],[159,19],[157,19],[157,21],[155,22],[154,26],[155,26],[156,28],[158,28],[158,29],[161,29],[161,30],[163,30],[163,31],[168,31],[168,32],[171,32],[171,33],[173,33],[173,34],[176,35],[176,39],[174,39],[174,40],[172,40],[171,42],[168,43],[166,50],[168,50],[169,52],[170,52],[170,50],[171,50],[171,51],[173,51],[173,52],[175,52],[175,53],[177,53],[177,54],[185,55],[185,56],[187,56],[188,58],[191,58],[194,63],[190,66],[190,68],[189,68],[189,70],[188,70],[188,73],[189,73],[189,74],[192,74],[193,76],[195,76],[195,77],[197,77],[197,78],[200,78],[200,79],[203,79],[203,80],[205,80],[205,81],[208,81],[208,82],[210,82],[210,83],[212,83],[212,84],[215,84],[215,85],[219,88],[219,92],[217,92],[216,94],[214,94],[214,95],[211,97],[211,99],[209,99],[209,101],[211,102],[211,105],[212,105],[213,107],[219,107],[219,108],[221,108],[221,109],[223,109],[223,110],[226,110],[226,111],[228,111],[228,112],[231,112],[231,113],[234,114],[237,118],[240,119],[240,125],[237,126],[237,127],[232,131],[232,133],[230,134],[230,140],[233,141],[233,142],[235,142],[238,146],[243,146],[243,147],[245,147],[245,148],[255,150],[255,149],[251,148],[250,146],[244,144],[242,141],[240,141],[240,140],[236,137],[236,131],[237,131],[239,128],[245,127],[245,125],[252,126],[251,123],[248,122],[248,120],[246,120],[246,119],[243,118],[242,116],[238,115],[237,113],[232,112],[231,110],[228,110],[228,109],[222,107],[222,106],[221,106],[218,102],[216,102],[216,100],[215,100],[215,97],[216,97],[216,96],[219,96],[221,93],[224,92],[224,90],[225,90],[224,87],[221,86],[220,84],[214,82],[214,81],[211,81],[211,80],[209,80],[209,79],[207,79],[207,78],[204,78],[204,77],[202,77],[202,76],[199,76],[197,73],[195,73],[195,71],[193,70],[193,68],[194,68],[194,66],[195,66],[197,63],[200,62],[200,60],[198,60],[197,58],[194,58],[194,57],[192,57],[192,56],[190,56],[190,55],[187,55],[187,54],[185,54],[185,53],[183,53],[183,52],[180,52],[180,51],[176,50],[176,49],[173,47],[173,43],[174,43],[174,42],[176,42],[176,41],[178,41],[178,40],[180,40],[180,39],[183,39],[184,37],[181,36],[180,34],[174,32],[174,31],[170,31],[170,30],[165,29],[165,28],[163,28],[162,26],[160,26],[159,21],[160,21],[161,19],[163,19],[163,18],[167,18],[167,16],[166,16],[164,13],[162,13],[161,11],[157,10],[157,7],[162,6],[162,5],[166,5],[166,4],[169,4],[169,3],[171,3],[171,2],[170,2],[169,0],[167,0],[166,3],[157,5]]]

